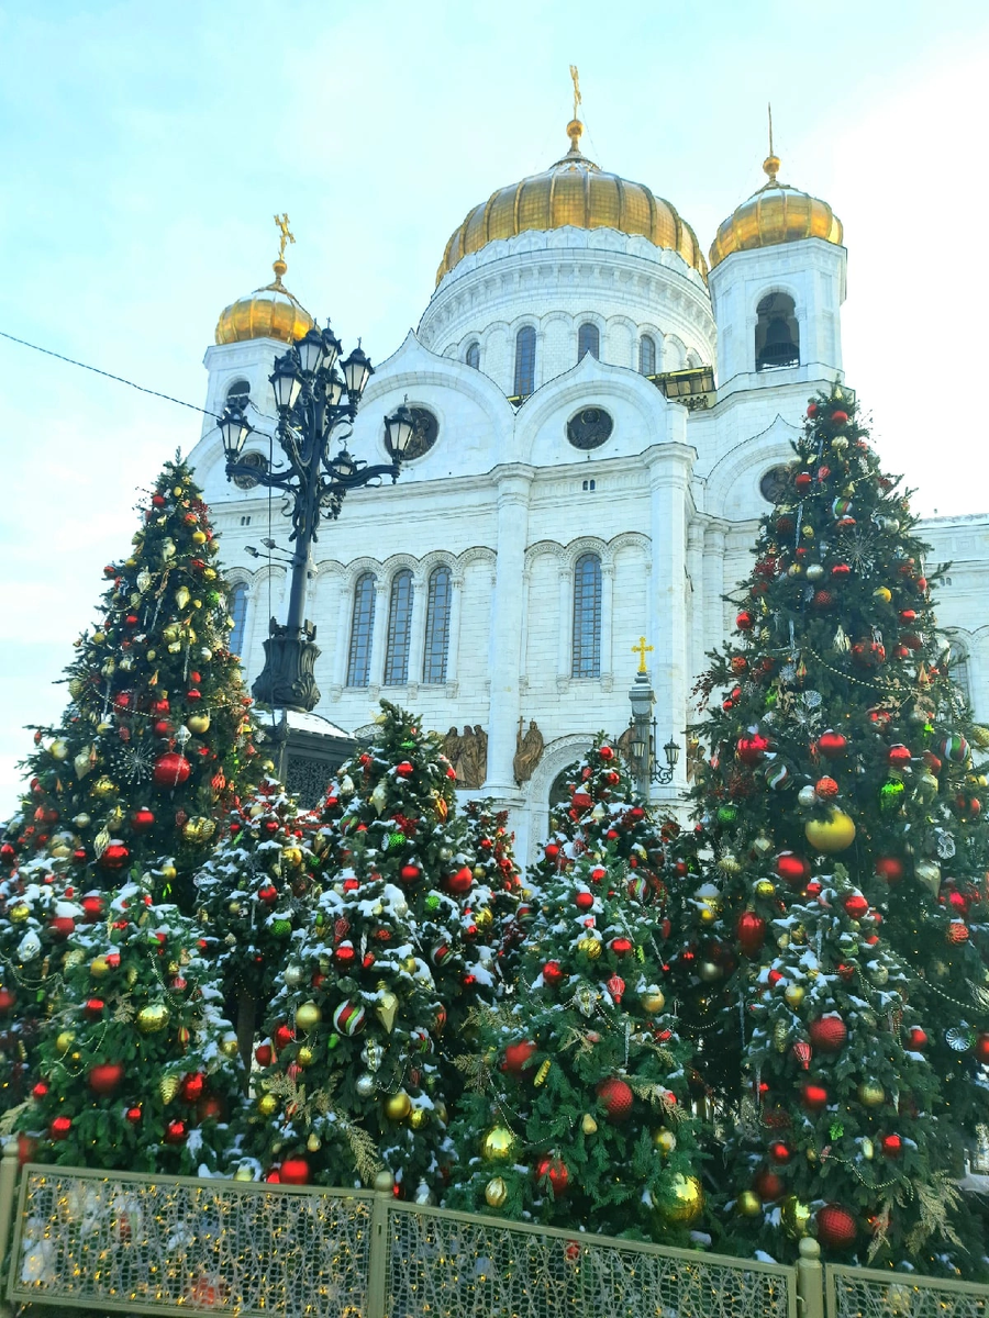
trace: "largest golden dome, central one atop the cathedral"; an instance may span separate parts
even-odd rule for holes
[[[578,144],[583,130],[580,120],[572,119],[567,124],[570,150],[562,159],[542,174],[500,187],[487,202],[475,206],[447,243],[436,283],[465,256],[480,252],[488,243],[529,229],[566,225],[641,235],[658,248],[678,252],[687,265],[707,278],[704,253],[690,224],[645,183],[607,174],[582,156]]]

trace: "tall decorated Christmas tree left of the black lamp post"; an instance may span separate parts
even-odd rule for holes
[[[152,870],[156,895],[187,903],[218,818],[251,782],[251,700],[227,648],[219,544],[182,461],[166,463],[141,517],[129,556],[104,569],[62,721],[36,730],[0,861],[69,859],[83,892]]]

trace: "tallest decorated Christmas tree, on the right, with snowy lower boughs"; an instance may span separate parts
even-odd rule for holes
[[[711,1036],[741,1062],[725,1094],[754,1098],[770,1161],[793,1148],[760,1194],[753,1122],[729,1143],[749,1235],[779,1238],[782,1195],[828,1249],[930,1271],[961,1256],[945,1178],[989,1114],[989,894],[985,733],[914,526],[851,393],[818,397],[700,685],[713,854],[695,954],[731,1003]]]

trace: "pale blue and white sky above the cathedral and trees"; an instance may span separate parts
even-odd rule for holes
[[[380,361],[465,211],[566,149],[571,62],[587,153],[705,248],[762,182],[773,100],[782,178],[845,224],[845,365],[887,467],[924,510],[989,510],[984,0],[0,3],[0,330],[200,403],[287,210],[286,283]],[[136,488],[196,436],[0,340],[0,817]]]

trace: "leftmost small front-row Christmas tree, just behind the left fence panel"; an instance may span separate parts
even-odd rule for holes
[[[44,1162],[223,1172],[241,1072],[195,927],[140,884],[65,902],[73,929],[17,1128]]]

